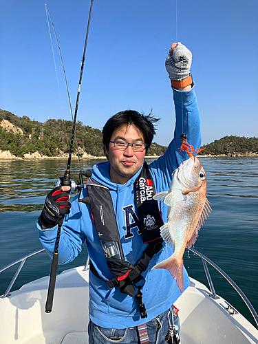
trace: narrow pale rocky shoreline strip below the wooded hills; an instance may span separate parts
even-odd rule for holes
[[[73,153],[72,155],[74,158],[77,157],[76,153]],[[213,155],[213,154],[207,154],[207,155],[198,155],[198,158],[256,158],[258,157],[257,153],[246,153],[246,154],[239,154],[239,153],[233,153],[233,154],[218,154],[218,155]],[[62,155],[58,156],[46,156],[42,155],[38,151],[35,153],[28,153],[24,154],[23,158],[17,157],[13,155],[10,151],[1,151],[0,150],[0,160],[56,160],[56,159],[67,159],[68,158],[68,153],[63,153]],[[157,155],[153,156],[147,156],[146,158],[159,158]],[[87,153],[83,153],[83,155],[80,157],[80,159],[99,159],[99,160],[105,160],[105,156],[93,156]]]

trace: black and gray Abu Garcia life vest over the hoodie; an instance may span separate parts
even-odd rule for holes
[[[160,227],[163,225],[163,220],[158,208],[158,202],[152,198],[155,195],[155,186],[146,162],[144,162],[140,175],[138,175],[133,185],[139,230],[144,244],[148,243],[136,266],[125,260],[109,188],[96,182],[94,178],[87,180],[87,193],[91,199],[92,218],[105,252],[107,267],[115,275],[115,278],[106,281],[98,275],[93,264],[91,264],[90,268],[96,277],[107,283],[109,288],[119,287],[120,292],[128,294],[130,297],[135,294],[135,287],[138,288],[136,298],[138,298],[140,310],[142,308],[140,313],[141,316],[143,315],[142,317],[146,317],[147,314],[144,316],[144,304],[142,303],[141,293],[144,282],[142,284],[140,281],[144,281],[144,279],[141,273],[147,269],[153,255],[163,247],[163,239],[160,237]]]

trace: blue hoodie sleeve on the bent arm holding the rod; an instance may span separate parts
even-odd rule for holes
[[[82,211],[77,197],[74,197],[71,211],[65,215],[64,223],[61,228],[61,236],[58,248],[58,264],[67,264],[74,260],[81,251],[81,246],[85,241],[85,235],[80,231]],[[68,221],[69,220],[69,221]],[[49,229],[41,229],[39,222],[39,239],[50,257],[54,254],[56,245],[56,235],[58,226]]]

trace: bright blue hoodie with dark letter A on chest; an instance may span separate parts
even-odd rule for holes
[[[169,190],[173,171],[178,168],[182,160],[186,159],[185,152],[179,155],[182,144],[180,139],[182,127],[188,142],[193,144],[193,147],[199,148],[201,144],[200,115],[194,87],[187,92],[173,89],[173,96],[176,114],[174,139],[169,144],[166,153],[149,165],[157,193]],[[182,119],[184,120],[183,125]],[[92,170],[92,178],[109,187],[125,259],[135,265],[147,247],[147,244],[143,244],[142,235],[138,233],[138,215],[134,202],[133,183],[140,171],[133,175],[125,185],[122,185],[111,182],[109,168],[109,162],[96,164]],[[84,189],[82,197],[86,196],[87,191]],[[160,204],[160,213],[163,221],[166,222],[167,206],[164,203]],[[56,232],[57,226],[47,230],[41,230],[39,227],[41,243],[50,256],[53,255]],[[58,250],[59,264],[72,261],[80,252],[85,239],[89,257],[98,274],[105,280],[114,278],[114,275],[107,268],[107,261],[94,227],[89,205],[79,203],[75,197],[71,212],[65,216],[61,231]],[[180,297],[180,289],[168,270],[151,271],[151,268],[172,254],[173,250],[164,244],[162,250],[153,256],[147,270],[142,274],[146,280],[142,288],[143,302],[148,314],[146,319],[140,318],[135,297],[121,294],[119,288],[110,289],[107,283],[89,272],[90,319],[101,327],[127,328],[150,321],[158,314],[168,310]],[[184,290],[188,286],[189,277],[184,269]]]

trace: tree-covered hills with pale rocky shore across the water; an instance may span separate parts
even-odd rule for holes
[[[41,123],[0,109],[0,160],[67,159],[71,132],[72,121],[69,120],[49,119]],[[106,160],[99,129],[78,121],[76,140],[81,159]],[[166,148],[153,142],[146,158],[158,158]],[[205,150],[198,157],[203,158],[258,157],[258,138],[224,136],[201,148]],[[73,156],[77,157],[78,153],[74,142]]]

